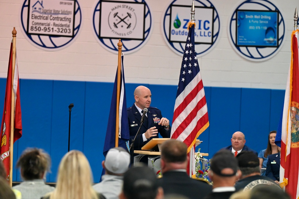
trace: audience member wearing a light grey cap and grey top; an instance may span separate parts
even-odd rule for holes
[[[95,191],[103,194],[107,199],[118,199],[122,191],[123,174],[128,170],[130,165],[130,154],[122,147],[111,148],[102,166],[105,174],[102,181],[95,184]]]

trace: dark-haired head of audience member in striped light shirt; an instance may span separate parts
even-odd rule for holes
[[[16,166],[21,169],[24,180],[34,180],[43,179],[50,164],[50,156],[42,149],[28,148],[22,153]]]

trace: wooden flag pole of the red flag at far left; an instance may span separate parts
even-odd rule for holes
[[[9,184],[13,185],[13,131],[14,131],[14,115],[15,115],[15,95],[13,92],[13,77],[16,65],[16,28],[13,27],[13,55],[12,55],[12,72],[11,72],[11,108],[10,108],[10,144],[9,144]]]

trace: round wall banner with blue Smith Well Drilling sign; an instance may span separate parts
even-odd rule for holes
[[[282,47],[285,25],[279,9],[270,1],[247,0],[234,9],[227,31],[241,57],[265,61]]]

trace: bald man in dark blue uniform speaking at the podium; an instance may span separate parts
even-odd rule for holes
[[[171,132],[169,120],[162,117],[161,111],[159,109],[157,109],[156,107],[150,107],[150,89],[145,86],[138,86],[134,91],[134,99],[135,103],[133,104],[133,106],[127,109],[130,131],[130,145],[140,127],[140,120],[143,114],[143,109],[148,109],[139,132],[140,134],[137,135],[135,139],[134,150],[141,150],[141,147],[143,147],[151,139],[158,138],[158,133],[160,133],[163,138],[169,138]],[[134,154],[134,156],[136,156],[136,154]]]

